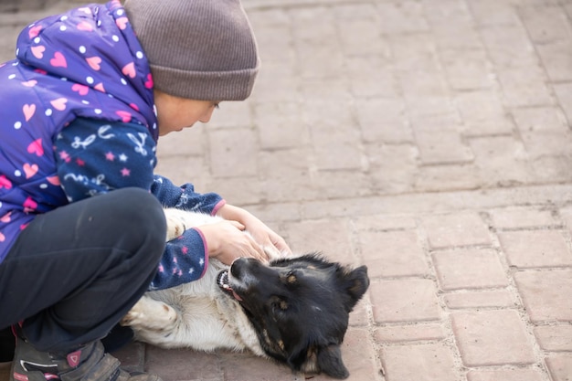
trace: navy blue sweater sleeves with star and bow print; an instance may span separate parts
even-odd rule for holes
[[[154,175],[155,143],[141,124],[78,118],[54,142],[58,177],[69,202],[128,186],[149,190],[165,207],[216,214],[225,201],[198,194],[192,184],[174,185]],[[150,285],[162,290],[199,279],[207,269],[207,245],[196,228],[167,242]]]

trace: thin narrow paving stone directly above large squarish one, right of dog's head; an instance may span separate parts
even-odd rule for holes
[[[516,298],[509,291],[469,291],[445,294],[445,304],[452,310],[467,308],[514,307]]]

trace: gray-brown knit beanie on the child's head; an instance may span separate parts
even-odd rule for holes
[[[244,101],[260,60],[239,0],[128,0],[125,12],[155,89],[200,101]]]

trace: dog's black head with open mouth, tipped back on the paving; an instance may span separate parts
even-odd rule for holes
[[[314,254],[270,265],[238,259],[218,284],[240,303],[267,355],[295,371],[349,376],[340,344],[369,286],[365,266],[352,270]]]

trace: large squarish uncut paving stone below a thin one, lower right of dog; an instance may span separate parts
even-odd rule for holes
[[[451,321],[464,365],[535,363],[532,340],[517,312],[453,312]]]

